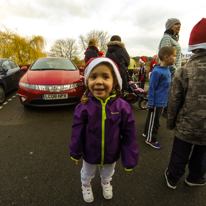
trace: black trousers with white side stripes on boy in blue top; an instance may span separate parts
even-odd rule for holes
[[[147,136],[148,142],[156,142],[159,129],[159,119],[162,114],[162,107],[154,107],[154,111],[149,109],[144,134]]]

